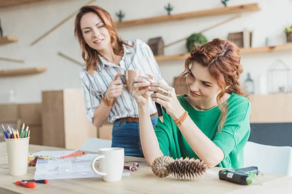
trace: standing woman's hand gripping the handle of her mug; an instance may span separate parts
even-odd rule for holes
[[[109,100],[110,102],[113,102],[115,100],[116,97],[119,97],[122,95],[122,90],[123,90],[123,85],[121,84],[122,81],[121,80],[117,80],[118,76],[121,73],[118,73],[115,77],[114,80],[110,82],[110,86],[108,88],[108,90],[105,93],[105,96],[107,98],[107,100]]]

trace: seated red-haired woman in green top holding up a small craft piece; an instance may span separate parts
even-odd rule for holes
[[[138,104],[146,161],[151,164],[169,151],[174,159],[199,158],[209,168],[242,168],[251,105],[239,86],[241,73],[238,47],[228,40],[214,39],[196,45],[185,61],[179,79],[186,81],[188,95],[177,97],[170,86],[146,77],[135,78],[131,93]],[[158,93],[161,89],[167,96]],[[149,116],[149,97],[166,109],[164,122],[158,120],[155,130]]]

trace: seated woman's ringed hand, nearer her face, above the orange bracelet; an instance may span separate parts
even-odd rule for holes
[[[151,99],[154,102],[161,104],[165,108],[166,113],[168,113],[173,118],[173,120],[177,120],[183,115],[185,110],[179,102],[173,87],[165,85],[161,82],[152,82],[150,87],[150,91],[155,92],[151,94]],[[158,93],[160,88],[168,91],[167,96]]]

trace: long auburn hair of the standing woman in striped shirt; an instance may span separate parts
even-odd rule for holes
[[[130,45],[126,44],[123,40],[121,40],[116,30],[116,23],[106,10],[95,5],[81,7],[77,16],[75,17],[74,34],[77,37],[80,47],[82,49],[82,58],[86,63],[86,68],[89,73],[93,73],[96,70],[97,64],[100,64],[101,61],[99,59],[97,50],[92,49],[90,46],[86,44],[80,27],[80,20],[82,16],[89,12],[92,12],[99,16],[102,22],[104,23],[105,27],[108,29],[110,33],[111,46],[113,48],[113,52],[116,55],[123,56],[124,54],[123,45],[127,46]],[[131,45],[130,47],[132,46],[133,45]]]

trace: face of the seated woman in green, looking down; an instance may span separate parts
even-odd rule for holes
[[[186,76],[189,97],[193,101],[214,100],[220,93],[217,81],[211,76],[207,67],[193,62]]]

